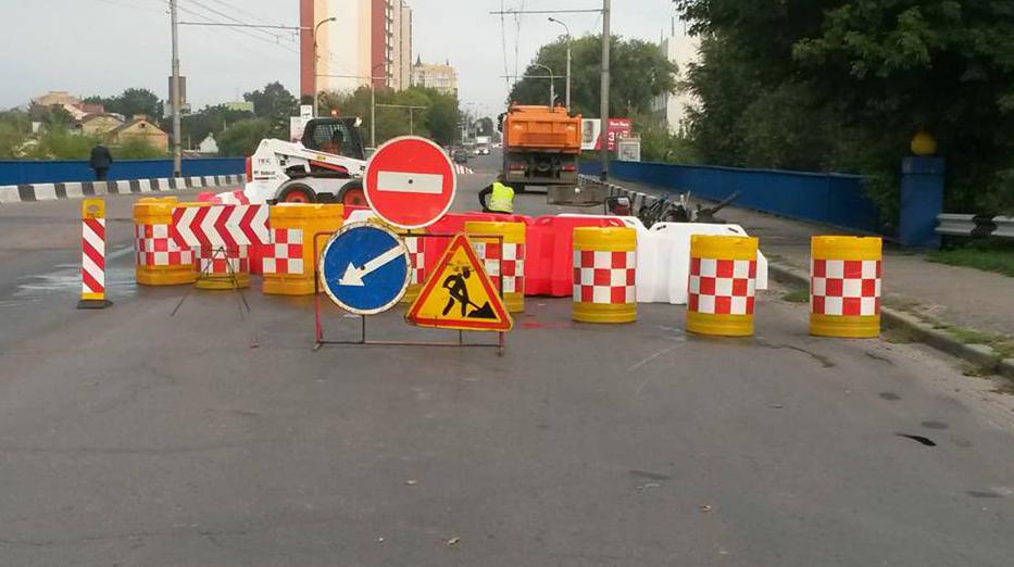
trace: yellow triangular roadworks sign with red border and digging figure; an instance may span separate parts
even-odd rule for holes
[[[509,331],[514,327],[465,235],[451,240],[405,319],[437,329]]]

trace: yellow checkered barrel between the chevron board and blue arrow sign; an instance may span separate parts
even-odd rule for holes
[[[284,203],[271,207],[271,244],[261,247],[262,291],[270,295],[313,295],[316,257],[313,236],[334,232],[345,222],[340,204]],[[323,247],[322,238],[320,244]]]

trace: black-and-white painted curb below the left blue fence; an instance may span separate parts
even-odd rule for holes
[[[61,199],[83,199],[105,194],[138,194],[185,189],[211,189],[243,185],[246,175],[205,175],[160,179],[124,179],[118,181],[67,181],[23,184],[0,187],[0,204],[34,203]]]

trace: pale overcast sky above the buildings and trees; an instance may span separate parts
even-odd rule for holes
[[[531,60],[562,27],[546,15],[513,16],[501,26],[488,12],[506,9],[601,8],[598,0],[410,0],[415,15],[414,51],[423,61],[450,60],[460,96],[496,115],[509,86],[501,75]],[[166,96],[170,25],[166,0],[0,0],[0,109],[22,105],[48,90],[111,96],[128,87]],[[195,12],[242,22],[298,24],[298,0],[179,0],[181,21]],[[658,41],[668,29],[671,0],[614,0],[613,33]],[[601,30],[601,15],[561,14],[571,32]],[[181,27],[180,64],[196,109],[229,100],[280,80],[299,88],[296,37],[289,32]],[[253,37],[251,37],[253,36]],[[505,49],[504,49],[505,47]],[[516,56],[515,56],[516,49]],[[504,61],[505,60],[505,61]],[[562,70],[561,70],[562,73]]]

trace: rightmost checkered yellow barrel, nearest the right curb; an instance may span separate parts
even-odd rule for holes
[[[869,339],[880,335],[882,240],[813,237],[810,333]]]

